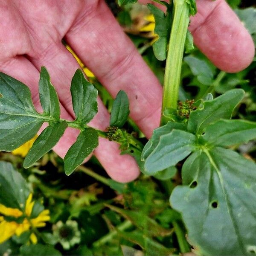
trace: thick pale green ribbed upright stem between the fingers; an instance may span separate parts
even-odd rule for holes
[[[177,108],[180,86],[180,72],[183,59],[187,28],[189,26],[189,6],[185,0],[174,0],[174,17],[166,58],[166,69],[163,83],[163,103],[160,125],[167,119],[163,116],[166,108]]]

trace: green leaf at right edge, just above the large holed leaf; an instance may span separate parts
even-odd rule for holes
[[[246,120],[219,120],[208,125],[201,138],[207,145],[223,147],[247,143],[256,139],[256,122]]]

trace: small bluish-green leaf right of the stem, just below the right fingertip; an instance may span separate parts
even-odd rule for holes
[[[194,76],[204,85],[212,85],[213,72],[207,61],[201,60],[193,55],[184,57],[184,61],[189,65]]]

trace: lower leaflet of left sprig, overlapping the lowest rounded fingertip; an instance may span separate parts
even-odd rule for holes
[[[93,128],[85,128],[80,132],[76,142],[67,151],[64,157],[66,175],[70,175],[84,159],[93,152],[99,143],[98,132]]]

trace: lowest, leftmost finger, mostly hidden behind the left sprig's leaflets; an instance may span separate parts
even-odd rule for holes
[[[32,101],[35,105],[36,110],[39,113],[42,113],[42,107],[39,100],[38,93],[38,81],[39,81],[39,72],[38,70],[31,64],[23,56],[16,56],[5,62],[0,63],[0,70],[3,73],[8,74],[9,76],[14,77],[15,79],[26,84],[32,94]],[[61,106],[61,117],[64,119],[72,119],[69,113]],[[47,126],[45,123],[43,127],[40,129],[40,132]],[[64,157],[67,153],[67,149],[76,141],[76,137],[78,136],[78,131],[73,128],[67,128],[63,137],[59,140],[58,144],[53,148],[55,152]]]

